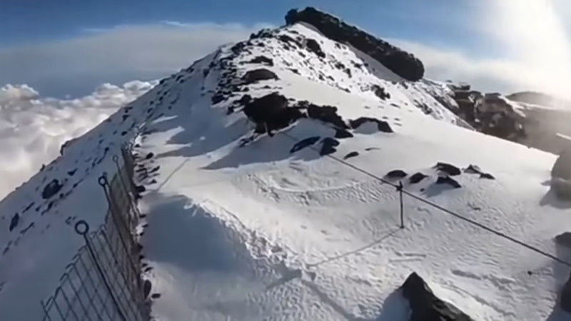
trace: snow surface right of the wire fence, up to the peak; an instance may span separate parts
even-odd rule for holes
[[[280,34],[319,39],[328,60],[360,61],[304,26]],[[342,140],[335,156],[358,151],[348,161],[380,176],[397,168],[431,174],[406,187],[570,258],[552,242],[570,228],[571,214],[545,185],[554,156],[454,126],[444,108],[438,108],[440,116],[425,116],[413,101],[430,101],[428,81],[407,89],[390,83],[393,75],[377,73],[375,79],[358,68],[348,78],[315,56],[308,54],[311,60],[304,63],[276,39],[263,43],[260,48],[253,41],[233,58],[237,77],[259,67],[241,63],[258,54],[283,59],[267,67],[280,80],[249,86],[252,96],[278,90],[298,101],[337,106],[343,118],[382,118],[395,129],[394,134],[366,130]],[[224,49],[214,64],[231,55]],[[300,75],[288,67],[299,68]],[[208,73],[205,91],[216,91],[217,70]],[[336,81],[320,81],[320,71]],[[159,319],[407,320],[405,304],[393,291],[412,271],[476,320],[568,317],[552,314],[567,268],[410,198],[407,228],[399,230],[393,188],[309,148],[290,154],[295,143],[290,137],[332,137],[331,128],[303,119],[283,134],[238,148],[238,138],[247,136],[243,114],[226,116],[232,99],[210,106],[208,95],[193,96],[190,89],[201,73],[188,77],[183,85],[188,102],[150,123],[156,132],[142,142],[143,151],[155,153],[161,165],[153,178],[158,184],[144,199],[150,212],[146,255],[155,290],[162,293],[154,305]],[[396,106],[363,90],[368,82],[388,88]],[[440,188],[433,185],[431,169],[438,161],[477,164],[497,179],[464,174],[463,188]]]

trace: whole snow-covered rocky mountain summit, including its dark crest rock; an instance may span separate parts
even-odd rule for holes
[[[312,15],[163,79],[5,198],[2,320],[41,316],[130,141],[152,172],[137,180],[157,320],[421,320],[418,275],[475,320],[569,317],[568,267],[415,198],[400,229],[398,193],[372,177],[570,260],[555,156],[477,133],[412,55]]]

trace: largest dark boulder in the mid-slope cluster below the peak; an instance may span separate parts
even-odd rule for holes
[[[271,135],[271,131],[285,128],[303,117],[298,108],[290,108],[288,99],[279,93],[269,93],[246,103],[243,112],[256,123],[256,133]]]

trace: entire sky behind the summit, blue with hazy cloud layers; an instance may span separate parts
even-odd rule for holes
[[[538,1],[546,0],[1,0],[0,86],[27,83],[48,96],[81,96],[105,82],[159,78],[220,44],[283,24],[288,9],[316,6],[413,51],[430,77],[515,90],[527,86],[515,78],[534,78],[520,52],[544,46],[526,35],[555,15],[571,21],[560,15],[571,1],[547,0],[554,4],[547,9]],[[546,39],[568,43],[565,36]]]

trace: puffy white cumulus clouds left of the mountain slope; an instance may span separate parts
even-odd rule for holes
[[[91,95],[71,100],[41,98],[26,85],[1,87],[0,198],[54,160],[62,143],[83,135],[152,86],[141,81],[106,83]]]

